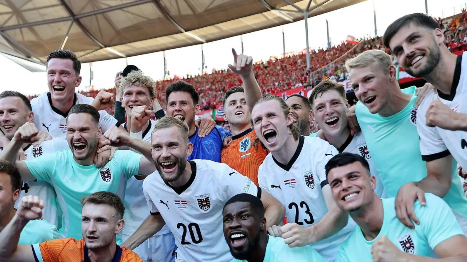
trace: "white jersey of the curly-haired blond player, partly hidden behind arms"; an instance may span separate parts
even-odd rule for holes
[[[148,128],[143,131],[143,141],[151,142],[151,133],[154,130],[155,124],[156,121],[151,120]],[[127,123],[123,124],[123,127],[127,130]],[[123,215],[125,227],[121,231],[122,234],[132,235],[149,216],[148,203],[142,192],[143,180],[138,180],[135,177],[127,180],[125,198],[123,199],[123,204],[125,206],[125,214]],[[170,229],[164,226],[156,235],[167,233],[170,233]]]

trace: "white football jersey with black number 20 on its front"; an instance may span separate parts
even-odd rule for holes
[[[203,159],[189,163],[192,174],[183,187],[170,186],[158,172],[144,179],[149,211],[161,214],[174,234],[177,259],[231,262],[233,257],[222,229],[222,209],[227,200],[240,193],[261,198],[261,189],[226,164]]]

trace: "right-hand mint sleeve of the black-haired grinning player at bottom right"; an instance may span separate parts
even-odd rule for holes
[[[452,209],[441,198],[425,193],[426,207],[422,207],[418,200],[415,202],[415,215],[423,236],[428,240],[430,248],[434,249],[439,243],[455,236],[463,235],[462,229],[453,214]]]

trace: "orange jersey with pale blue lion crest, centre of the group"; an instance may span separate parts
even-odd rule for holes
[[[229,165],[258,185],[258,167],[268,151],[261,145],[254,146],[256,133],[251,128],[232,137],[232,144],[222,149],[221,162]]]

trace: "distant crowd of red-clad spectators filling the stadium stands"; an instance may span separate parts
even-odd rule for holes
[[[467,42],[467,12],[446,19],[437,19],[446,36],[446,44],[453,51],[466,49]],[[311,68],[306,68],[306,49],[300,52],[285,54],[284,57],[271,57],[268,61],[256,62],[255,77],[262,88],[263,94],[277,93],[295,87],[312,87],[323,77],[340,82],[348,79],[344,67],[345,61],[363,51],[381,49],[389,52],[382,43],[382,37],[361,39],[358,43],[341,42],[327,49],[311,50]],[[182,79],[198,88],[201,110],[214,109],[222,103],[226,90],[235,85],[241,85],[241,79],[227,69],[212,70],[198,76],[175,77],[156,82],[157,99],[165,108],[165,87],[174,80]],[[113,81],[109,79],[109,81]],[[107,90],[115,93],[115,89]],[[82,91],[82,94],[95,97],[98,90]],[[32,99],[33,97],[29,97]],[[113,113],[113,108],[107,109]]]

